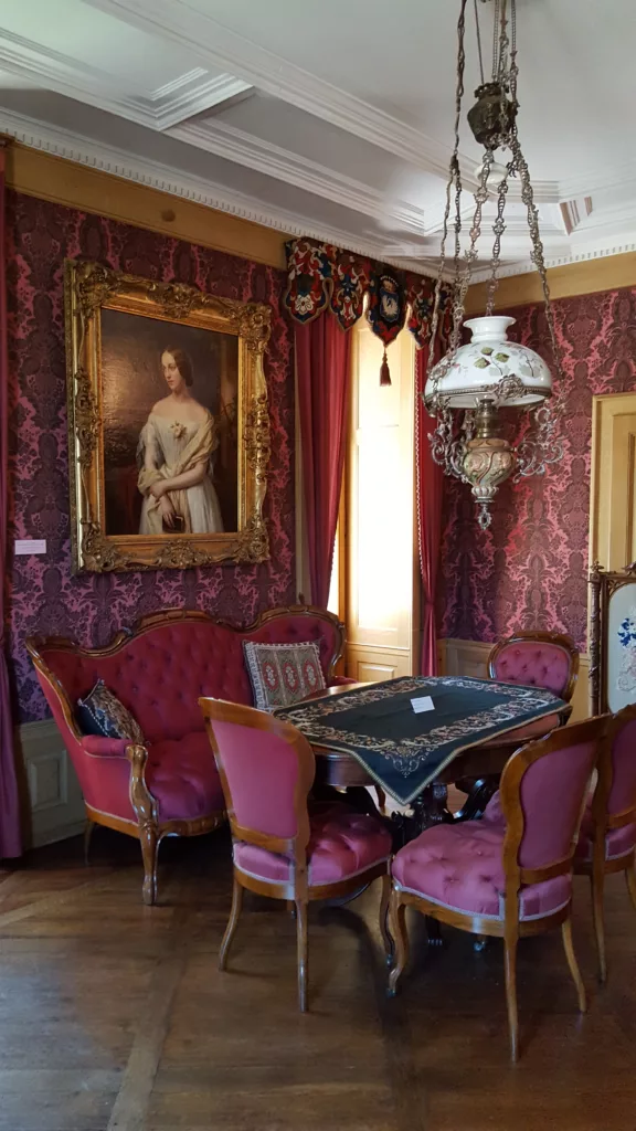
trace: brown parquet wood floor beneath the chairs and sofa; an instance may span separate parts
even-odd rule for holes
[[[310,1012],[295,925],[246,896],[230,972],[224,831],[162,847],[144,907],[138,848],[97,830],[0,873],[0,1131],[635,1131],[636,914],[608,881],[609,982],[595,982],[588,892],[575,1008],[560,934],[519,948],[522,1059],[508,1061],[499,941],[445,931],[385,996],[378,890],[310,915]]]

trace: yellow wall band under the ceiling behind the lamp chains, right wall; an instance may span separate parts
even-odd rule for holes
[[[548,269],[551,299],[569,299],[577,294],[594,294],[596,291],[618,291],[620,287],[636,286],[636,252],[626,251],[621,256],[605,256],[585,259],[578,264]],[[475,283],[466,295],[466,314],[481,314],[485,310],[487,283]],[[496,310],[510,307],[526,307],[543,302],[541,279],[536,271],[527,275],[510,275],[502,278],[497,290]]]

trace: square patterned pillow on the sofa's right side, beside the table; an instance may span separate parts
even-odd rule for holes
[[[312,691],[321,691],[325,676],[312,640],[304,644],[253,644],[243,640],[255,707],[290,707]]]

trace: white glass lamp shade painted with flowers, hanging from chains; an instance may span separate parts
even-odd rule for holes
[[[527,346],[508,342],[506,330],[514,322],[514,318],[495,314],[464,322],[472,340],[459,346],[446,372],[445,359],[432,369],[424,400],[430,403],[437,392],[449,408],[474,408],[483,397],[499,400],[506,389],[502,404],[528,408],[549,397],[552,378],[543,359]],[[506,379],[507,388],[501,385]]]

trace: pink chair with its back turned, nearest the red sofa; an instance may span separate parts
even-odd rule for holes
[[[243,888],[293,900],[298,929],[299,1003],[307,1010],[307,907],[346,896],[383,877],[380,925],[386,930],[390,834],[378,818],[344,804],[309,812],[313,751],[294,726],[251,707],[199,699],[230,818],[234,883],[220,969],[241,912]]]

